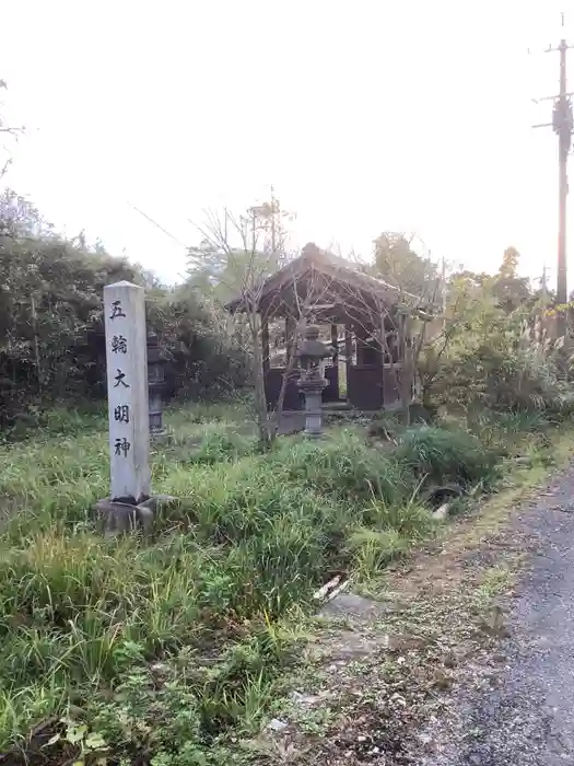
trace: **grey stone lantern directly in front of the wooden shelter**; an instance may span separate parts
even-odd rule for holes
[[[329,384],[325,379],[325,359],[331,351],[319,340],[317,325],[308,325],[305,340],[297,350],[301,363],[301,378],[297,382],[305,395],[305,434],[320,437],[321,434],[321,399],[323,390]]]

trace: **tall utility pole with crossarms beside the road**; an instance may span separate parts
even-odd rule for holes
[[[562,13],[562,27],[564,27],[564,14]],[[572,132],[574,127],[572,114],[572,93],[567,92],[566,80],[566,53],[574,46],[569,45],[565,38],[560,40],[558,47],[551,45],[544,53],[560,54],[560,79],[559,93],[554,96],[543,96],[538,101],[552,101],[554,103],[552,111],[552,121],[542,125],[534,125],[535,128],[551,127],[558,136],[558,270],[557,270],[557,304],[565,305],[569,300],[567,295],[567,266],[566,266],[566,197],[569,193],[567,181],[567,159],[572,143]],[[566,310],[558,312],[557,315],[557,335],[559,338],[566,337]]]

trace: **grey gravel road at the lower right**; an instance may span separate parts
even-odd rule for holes
[[[574,467],[515,523],[535,553],[509,638],[454,692],[421,766],[574,766]]]

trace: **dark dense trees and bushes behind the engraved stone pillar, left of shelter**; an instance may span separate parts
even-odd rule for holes
[[[166,355],[166,394],[229,393],[248,374],[222,317],[186,288],[161,288],[141,267],[85,237],[65,240],[15,193],[0,197],[0,427],[42,425],[49,402],[103,398],[103,290],[147,288],[148,326]]]

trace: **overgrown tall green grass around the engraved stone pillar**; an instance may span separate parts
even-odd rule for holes
[[[0,752],[262,757],[239,743],[296,676],[315,589],[344,572],[380,594],[389,564],[443,534],[423,502],[433,488],[472,496],[544,471],[559,433],[539,418],[386,423],[396,443],[336,428],[259,454],[243,407],[167,422],[153,487],[180,502],[147,541],[94,532],[90,508],[108,487],[97,415],[56,413],[33,441],[0,448]]]

